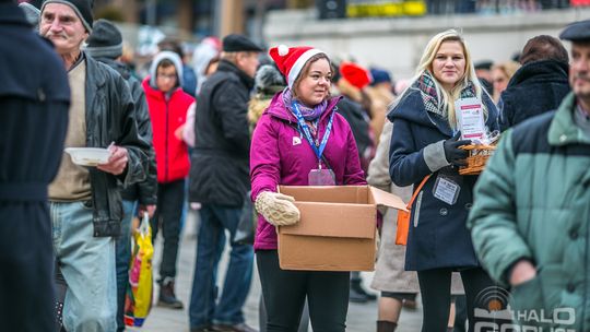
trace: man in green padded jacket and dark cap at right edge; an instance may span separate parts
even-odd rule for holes
[[[469,218],[522,331],[590,331],[590,20],[559,37],[571,42],[573,92],[503,134]]]

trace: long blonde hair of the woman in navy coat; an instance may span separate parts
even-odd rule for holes
[[[457,82],[455,87],[449,92],[442,88],[438,80],[434,76],[433,71],[433,61],[436,57],[436,52],[440,48],[440,45],[444,42],[459,42],[463,48],[463,55],[465,57],[465,71],[463,76]],[[442,109],[444,112],[446,112],[447,121],[449,122],[450,128],[456,129],[457,128],[457,117],[455,115],[455,100],[457,100],[461,96],[461,91],[468,86],[468,84],[471,82],[473,84],[473,87],[475,88],[475,96],[482,100],[482,95],[487,94],[483,88],[482,84],[480,83],[480,80],[477,80],[477,76],[475,75],[475,68],[473,67],[473,61],[471,59],[471,52],[469,51],[469,48],[467,47],[465,40],[457,32],[456,29],[447,29],[445,32],[441,32],[437,34],[436,36],[432,37],[428,44],[426,44],[426,48],[424,48],[424,52],[422,54],[422,58],[420,59],[420,64],[416,68],[416,72],[414,76],[410,80],[409,86],[404,90],[404,92],[401,94],[402,96],[405,95],[405,93],[413,88],[414,83],[425,73],[429,72],[433,82],[436,87],[436,95],[438,98],[438,106]],[[415,87],[414,87],[415,88]],[[401,98],[398,98],[394,105],[400,100]],[[485,104],[483,105],[484,116],[487,118],[487,108],[485,107]]]

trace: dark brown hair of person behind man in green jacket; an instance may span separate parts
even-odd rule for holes
[[[520,55],[520,64],[541,60],[557,60],[568,63],[569,57],[559,39],[548,35],[540,35],[527,42]]]

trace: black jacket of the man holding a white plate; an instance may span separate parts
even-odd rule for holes
[[[90,168],[94,236],[118,236],[122,203],[117,180],[127,187],[145,179],[150,143],[138,133],[135,105],[121,75],[92,57],[85,56],[85,61],[86,146],[107,147],[115,142],[129,153],[127,168],[119,176]]]

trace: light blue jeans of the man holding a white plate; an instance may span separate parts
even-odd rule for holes
[[[68,285],[63,327],[68,332],[117,329],[115,241],[94,237],[92,208],[50,203],[54,251]]]

